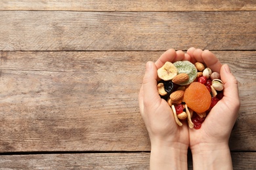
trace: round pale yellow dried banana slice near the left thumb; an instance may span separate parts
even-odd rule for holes
[[[177,68],[169,61],[165,62],[165,64],[158,69],[158,77],[165,81],[172,80],[177,74]]]

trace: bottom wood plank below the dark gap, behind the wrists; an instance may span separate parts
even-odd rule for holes
[[[255,169],[255,152],[232,152],[234,170]],[[0,156],[3,169],[149,169],[150,153],[30,154]],[[188,157],[188,169],[192,158]]]

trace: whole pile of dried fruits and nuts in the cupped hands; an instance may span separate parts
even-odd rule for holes
[[[167,61],[158,69],[158,93],[173,110],[175,121],[188,120],[190,128],[200,129],[205,117],[223,97],[219,73],[200,62]]]

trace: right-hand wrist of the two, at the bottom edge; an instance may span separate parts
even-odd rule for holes
[[[190,149],[194,169],[232,169],[228,143],[200,143]]]

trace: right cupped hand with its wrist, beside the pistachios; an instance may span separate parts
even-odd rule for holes
[[[238,81],[228,65],[222,65],[209,50],[189,48],[187,54],[193,63],[200,61],[219,72],[224,83],[224,97],[211,109],[202,127],[189,129],[194,169],[232,169],[228,140],[240,108]]]

